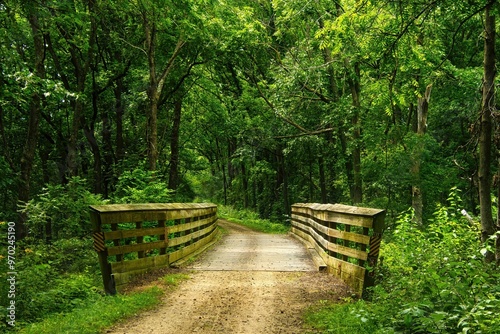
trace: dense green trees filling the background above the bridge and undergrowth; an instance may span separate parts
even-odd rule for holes
[[[294,202],[344,202],[413,206],[425,224],[452,187],[478,214],[480,181],[494,198],[498,170],[496,111],[479,145],[488,8],[3,1],[2,211],[22,225],[19,201],[75,176],[113,198],[142,169],[173,200],[281,221]]]

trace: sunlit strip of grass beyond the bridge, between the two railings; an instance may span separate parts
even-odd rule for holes
[[[217,214],[220,218],[246,226],[254,231],[285,234],[290,230],[285,224],[274,223],[269,219],[260,219],[257,213],[250,210],[236,210],[230,206],[218,205]]]

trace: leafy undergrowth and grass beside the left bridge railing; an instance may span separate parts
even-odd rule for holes
[[[115,202],[165,202],[170,193],[146,172],[125,173]],[[137,190],[134,187],[140,186]],[[78,177],[47,186],[20,209],[28,237],[16,242],[15,327],[8,322],[7,223],[0,222],[0,333],[96,333],[158,302],[159,291],[104,296],[89,205],[106,204]]]

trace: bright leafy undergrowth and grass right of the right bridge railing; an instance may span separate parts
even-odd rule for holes
[[[483,260],[479,224],[456,191],[425,229],[402,214],[387,231],[371,301],[321,305],[307,321],[324,333],[500,333],[500,272]]]

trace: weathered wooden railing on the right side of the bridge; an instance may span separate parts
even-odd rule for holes
[[[374,284],[385,210],[342,204],[292,205],[292,232],[309,242],[328,272],[358,296]]]

